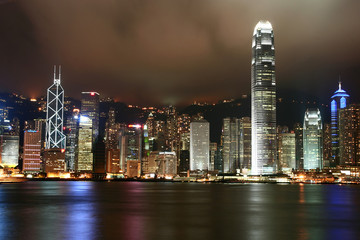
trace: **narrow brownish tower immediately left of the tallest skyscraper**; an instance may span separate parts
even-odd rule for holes
[[[251,119],[240,119],[240,169],[251,169]]]

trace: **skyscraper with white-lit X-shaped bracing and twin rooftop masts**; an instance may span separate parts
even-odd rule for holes
[[[54,66],[54,83],[47,90],[46,104],[46,149],[65,149],[64,122],[64,89],[61,86],[61,66],[56,77]]]

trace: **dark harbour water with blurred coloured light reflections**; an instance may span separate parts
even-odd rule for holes
[[[0,239],[360,239],[360,186],[1,184]]]

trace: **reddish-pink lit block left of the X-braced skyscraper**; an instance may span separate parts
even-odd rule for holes
[[[41,132],[27,130],[24,132],[23,172],[38,173],[41,171]]]

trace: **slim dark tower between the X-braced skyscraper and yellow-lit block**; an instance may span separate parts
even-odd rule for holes
[[[66,151],[65,162],[67,171],[75,171],[75,165],[78,157],[78,137],[79,137],[79,119],[80,110],[73,109],[72,115],[66,119],[65,135],[66,135]]]

